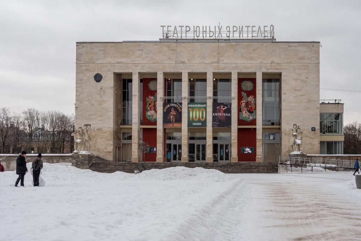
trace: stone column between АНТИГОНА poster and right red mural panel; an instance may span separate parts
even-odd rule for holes
[[[238,162],[238,147],[237,147],[237,137],[238,137],[238,73],[236,71],[232,72],[232,83],[231,83],[231,92],[232,92],[232,122],[231,122],[231,162]]]

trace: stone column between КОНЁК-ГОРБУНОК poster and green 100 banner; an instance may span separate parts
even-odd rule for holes
[[[188,162],[188,72],[182,72],[182,162]]]

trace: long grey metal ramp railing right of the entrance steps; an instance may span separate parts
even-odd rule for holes
[[[299,158],[293,156],[280,156],[279,164],[286,165],[303,165],[309,167],[327,167],[353,169],[355,161],[325,159],[325,158]]]

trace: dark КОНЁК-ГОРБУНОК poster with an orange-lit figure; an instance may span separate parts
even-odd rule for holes
[[[182,127],[182,103],[163,103],[163,126]]]

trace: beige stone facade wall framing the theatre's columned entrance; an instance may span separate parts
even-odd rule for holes
[[[279,74],[282,76],[282,155],[290,151],[293,123],[304,131],[307,154],[319,153],[319,134],[310,131],[312,126],[319,126],[318,42],[82,42],[77,43],[76,68],[76,125],[92,125],[93,153],[108,160],[114,159],[114,147],[120,144],[117,139],[118,84],[114,82],[118,73],[139,76],[139,73],[181,72],[191,76],[232,72],[261,73],[263,78],[265,74]],[[94,81],[96,73],[103,75],[100,83]],[[257,92],[257,98],[260,94]],[[259,113],[257,106],[257,117]],[[258,125],[259,121],[257,129],[262,130]],[[257,132],[257,156],[262,151],[259,133],[261,131]]]

